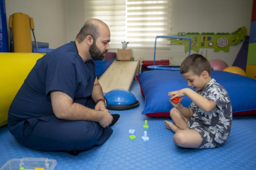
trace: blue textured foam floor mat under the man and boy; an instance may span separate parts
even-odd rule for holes
[[[8,127],[0,128],[0,167],[10,159],[45,157],[55,159],[55,170],[69,169],[256,169],[256,116],[233,117],[233,127],[226,144],[216,149],[183,149],[173,142],[174,133],[163,123],[168,118],[141,115],[144,99],[139,83],[131,92],[139,100],[138,108],[119,113],[113,134],[105,144],[71,156],[66,152],[40,152],[16,142]],[[148,120],[149,141],[144,142],[144,121]],[[136,139],[129,139],[129,129]]]

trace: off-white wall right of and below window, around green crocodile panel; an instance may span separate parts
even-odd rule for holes
[[[241,26],[250,34],[253,0],[173,0],[172,4],[172,35],[180,31],[187,32],[227,32],[232,33]],[[199,54],[208,60],[221,59],[229,66],[233,64],[241,48],[241,43],[230,47],[230,52],[214,52],[214,48],[200,48]],[[117,52],[117,50],[111,50]],[[207,54],[206,54],[207,51]],[[135,59],[140,56],[144,60],[153,60],[154,49],[133,49]],[[194,51],[191,51],[194,53]],[[156,59],[172,57],[174,65],[180,65],[187,57],[183,45],[172,45],[170,50],[157,49]]]

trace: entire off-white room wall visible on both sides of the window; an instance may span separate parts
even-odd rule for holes
[[[57,48],[73,41],[84,25],[84,2],[86,0],[6,0],[6,16],[16,12],[33,17],[38,42],[49,42]],[[173,0],[172,34],[184,32],[228,32],[241,26],[250,34],[253,0]],[[111,47],[110,47],[111,48]],[[120,45],[121,48],[121,45]],[[221,59],[232,65],[241,48],[241,43],[230,47],[230,52],[213,52],[213,48],[200,49],[199,54],[209,60]],[[206,55],[207,51],[207,55]],[[117,52],[111,49],[110,52]],[[153,60],[153,48],[134,48],[135,59]],[[192,53],[194,53],[192,51]],[[157,49],[156,59],[173,58],[180,65],[187,57],[183,45],[172,45],[171,49]]]

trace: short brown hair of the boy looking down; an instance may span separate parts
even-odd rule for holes
[[[209,76],[211,76],[211,64],[201,54],[191,54],[180,65],[181,74],[189,71],[192,71],[197,76],[200,76],[203,71],[207,71]]]

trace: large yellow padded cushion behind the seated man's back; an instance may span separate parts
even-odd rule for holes
[[[7,124],[11,102],[41,57],[43,55],[37,53],[0,53],[0,127]]]

